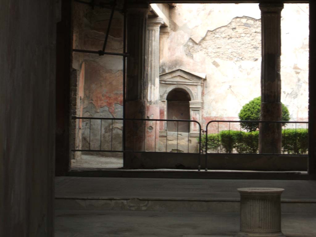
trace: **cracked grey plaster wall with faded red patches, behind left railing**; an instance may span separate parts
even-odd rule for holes
[[[94,8],[84,4],[74,4],[74,48],[85,50],[101,50],[107,30],[110,10]],[[123,52],[123,15],[114,12],[106,52]],[[82,69],[84,65],[84,69]],[[122,118],[123,117],[123,59],[120,56],[90,53],[73,53],[73,68],[77,75],[84,78],[77,79],[76,115],[84,117]],[[81,83],[80,83],[81,82]],[[82,83],[83,82],[83,83]],[[82,92],[82,93],[80,93]],[[79,126],[82,137],[79,138],[82,149],[111,149],[111,134],[113,132],[114,147],[121,149],[122,124],[112,121],[91,120],[91,134],[89,134],[89,120],[82,120]],[[101,136],[100,136],[101,130]],[[89,139],[90,137],[90,139]],[[101,146],[100,146],[101,137]],[[108,155],[102,153],[100,155]],[[114,154],[113,154],[114,155]],[[115,155],[114,155],[115,156]]]

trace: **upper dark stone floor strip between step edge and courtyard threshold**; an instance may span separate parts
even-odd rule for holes
[[[282,200],[316,201],[315,180],[56,177],[58,198],[152,198],[239,201],[237,188],[284,188]]]

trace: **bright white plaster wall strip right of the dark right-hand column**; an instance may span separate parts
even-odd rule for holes
[[[282,10],[282,102],[291,120],[308,119],[308,4],[285,4]]]

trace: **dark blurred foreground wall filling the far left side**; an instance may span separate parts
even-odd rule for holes
[[[0,0],[0,236],[53,236],[54,0]]]

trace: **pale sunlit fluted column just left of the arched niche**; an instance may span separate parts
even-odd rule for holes
[[[159,32],[163,24],[161,17],[148,18],[146,32],[146,88],[147,118],[159,119]],[[157,125],[157,126],[156,126]],[[155,151],[159,138],[159,124],[146,122],[146,150]]]

